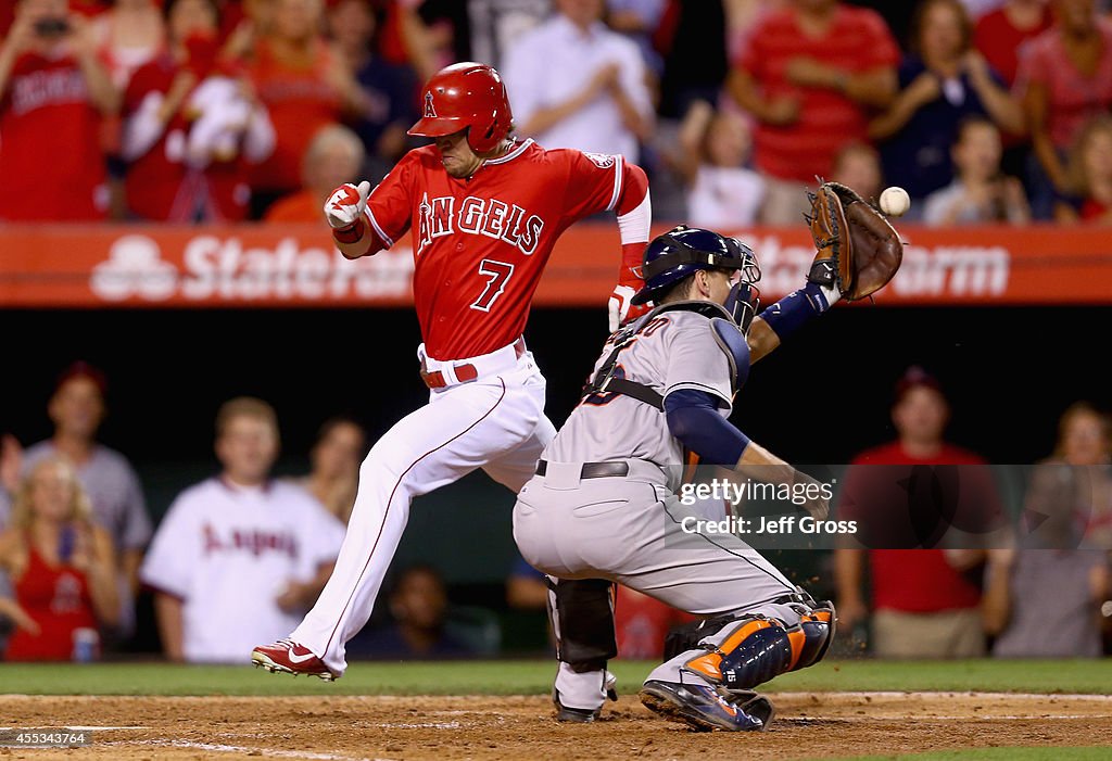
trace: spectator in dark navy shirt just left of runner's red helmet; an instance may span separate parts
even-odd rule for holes
[[[337,51],[367,94],[366,113],[353,122],[371,166],[361,177],[384,177],[407,148],[406,130],[417,121],[417,76],[409,66],[374,52],[376,17],[369,0],[339,0],[328,13]]]

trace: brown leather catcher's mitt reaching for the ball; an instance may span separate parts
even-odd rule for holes
[[[884,288],[900,269],[903,241],[884,214],[852,189],[821,182],[810,194],[811,237],[817,253],[807,280],[836,284],[846,301]]]

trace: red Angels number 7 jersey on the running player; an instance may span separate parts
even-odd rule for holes
[[[556,239],[615,209],[627,168],[620,156],[527,140],[457,179],[434,146],[409,151],[371,192],[367,216],[387,248],[413,231],[414,301],[429,357],[464,359],[513,343]]]

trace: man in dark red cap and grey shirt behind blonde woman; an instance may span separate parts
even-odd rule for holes
[[[97,431],[105,420],[107,389],[108,381],[97,368],[86,362],[67,368],[47,405],[54,433],[29,447],[21,454],[21,467],[26,473],[38,462],[57,455],[73,463],[92,504],[92,518],[108,531],[116,550],[120,613],[113,620],[120,634],[129,634],[135,625],[139,563],[150,540],[150,518],[131,463],[97,442]],[[13,440],[9,445],[18,447]]]

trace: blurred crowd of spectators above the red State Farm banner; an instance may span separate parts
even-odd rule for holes
[[[478,59],[518,136],[639,161],[661,219],[795,223],[818,176],[912,222],[1112,222],[1103,0],[2,0],[0,32],[0,220],[319,221]]]

